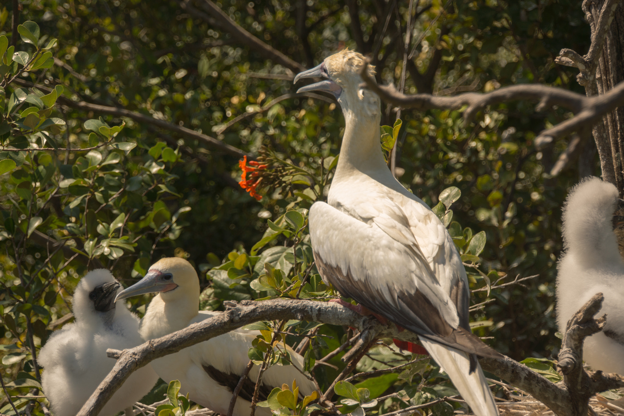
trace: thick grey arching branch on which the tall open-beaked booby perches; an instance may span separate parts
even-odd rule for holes
[[[404,341],[417,342],[416,334],[409,331],[399,332],[394,325],[383,326],[378,321],[361,316],[336,302],[319,302],[295,299],[273,299],[270,301],[243,301],[238,306],[228,309],[220,316],[193,324],[181,331],[151,341],[130,350],[109,351],[108,356],[118,358],[117,364],[102,381],[97,390],[80,410],[78,416],[95,416],[104,407],[107,400],[124,383],[134,370],[147,365],[158,357],[180,351],[183,348],[207,341],[216,336],[233,331],[236,328],[257,321],[297,319],[299,321],[319,322],[323,324],[352,326],[363,331],[368,328],[376,331],[379,337],[392,337]],[[509,381],[516,387],[529,392],[536,399],[544,402],[560,416],[570,409],[570,395],[565,386],[552,382],[537,374],[523,364],[509,357],[503,359],[480,359],[483,369]],[[605,378],[601,374],[593,377],[602,385],[614,385],[613,376]],[[602,381],[601,381],[602,380]],[[605,381],[606,380],[606,381]],[[619,379],[617,379],[619,380]],[[593,385],[600,385],[599,382]]]

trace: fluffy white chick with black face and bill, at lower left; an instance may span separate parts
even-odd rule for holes
[[[64,326],[39,352],[44,367],[42,387],[55,416],[74,416],[109,374],[115,360],[106,350],[143,344],[139,318],[123,304],[115,307],[120,288],[110,271],[97,269],[80,280],[72,309],[76,322]],[[114,415],[132,406],[152,389],[158,376],[146,365],[120,387],[100,415]]]

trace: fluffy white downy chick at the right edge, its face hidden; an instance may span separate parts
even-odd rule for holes
[[[611,183],[591,177],[570,191],[563,207],[565,254],[558,264],[557,321],[568,320],[592,296],[605,300],[602,332],[585,338],[583,359],[595,370],[624,374],[624,260],[613,232],[622,226],[624,201]]]

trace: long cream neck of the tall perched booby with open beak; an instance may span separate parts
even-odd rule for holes
[[[357,172],[381,170],[389,173],[381,152],[379,104],[367,103],[366,100],[369,97],[351,99],[349,103],[343,97],[338,99],[343,108],[345,129],[334,181],[346,180]]]

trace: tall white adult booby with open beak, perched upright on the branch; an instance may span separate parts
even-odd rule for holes
[[[310,209],[316,266],[343,296],[416,332],[475,414],[497,415],[472,354],[501,356],[470,332],[466,271],[451,236],[384,162],[381,106],[359,88],[363,65],[361,54],[345,50],[295,77],[328,78],[298,92],[333,93],[346,123],[328,203]]]

